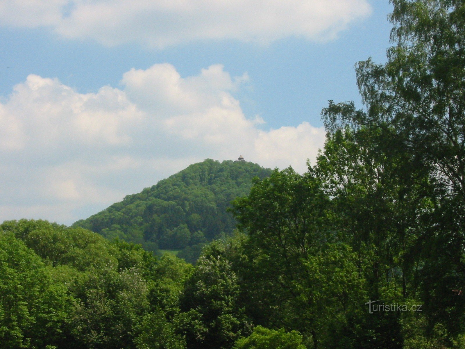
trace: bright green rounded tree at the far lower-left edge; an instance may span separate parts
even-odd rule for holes
[[[58,344],[69,307],[40,257],[0,229],[0,348]]]

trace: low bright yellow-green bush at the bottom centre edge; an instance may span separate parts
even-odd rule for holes
[[[257,326],[250,336],[236,342],[234,349],[306,349],[299,332]]]

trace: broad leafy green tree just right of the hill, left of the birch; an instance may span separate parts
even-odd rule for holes
[[[312,171],[274,171],[233,208],[249,235],[241,279],[255,323],[297,329],[314,347],[347,344],[339,340],[356,332],[365,284],[358,255],[338,241],[320,180]]]

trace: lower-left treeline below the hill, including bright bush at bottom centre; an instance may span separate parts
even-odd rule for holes
[[[244,239],[213,242],[193,267],[83,228],[5,221],[0,348],[305,348],[296,331],[253,329],[232,262]]]

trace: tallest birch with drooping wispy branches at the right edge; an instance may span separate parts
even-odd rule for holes
[[[429,202],[412,215],[419,229],[407,225],[416,242],[405,248],[402,277],[425,304],[426,334],[443,326],[442,345],[450,346],[465,331],[465,302],[456,294],[465,286],[465,7],[456,0],[392,4],[395,46],[387,62],[357,65],[364,110],[330,103],[323,115],[331,132],[348,125],[388,134],[373,141],[411,170],[399,171],[399,185],[423,188]]]

